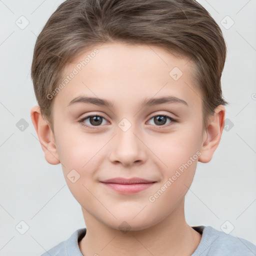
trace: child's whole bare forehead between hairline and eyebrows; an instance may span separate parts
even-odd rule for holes
[[[57,95],[62,106],[81,95],[128,104],[131,98],[135,102],[168,94],[190,106],[200,103],[193,62],[155,45],[97,45],[81,52],[63,73],[69,79]]]

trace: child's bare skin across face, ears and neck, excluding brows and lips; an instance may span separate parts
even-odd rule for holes
[[[197,161],[208,162],[220,141],[225,108],[220,105],[202,125],[202,95],[193,79],[193,63],[159,46],[105,43],[81,53],[65,67],[65,74],[94,48],[99,52],[54,96],[51,130],[38,106],[31,119],[45,159],[61,163],[67,185],[80,203],[86,235],[79,242],[83,255],[191,255],[201,235],[184,217],[184,196],[194,177]],[[182,71],[174,80],[173,67]],[[172,95],[181,103],[141,107],[145,98]],[[112,101],[114,107],[86,103],[67,106],[76,96]],[[79,119],[102,115],[100,125]],[[168,115],[162,124],[154,116]],[[123,131],[118,123],[131,124]],[[94,126],[93,126],[94,124]],[[197,151],[200,155],[153,202],[148,198]],[[80,178],[71,182],[75,169]],[[156,181],[134,194],[120,194],[100,180],[141,177]],[[165,184],[166,186],[166,184]],[[120,230],[123,222],[130,228]]]

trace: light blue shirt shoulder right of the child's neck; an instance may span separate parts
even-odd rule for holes
[[[226,234],[211,226],[193,227],[202,232],[201,241],[192,256],[197,253],[210,256],[255,256],[256,245],[243,238]],[[199,254],[198,254],[199,255]]]

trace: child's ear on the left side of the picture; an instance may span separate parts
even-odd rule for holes
[[[46,161],[50,164],[60,163],[54,133],[50,129],[48,123],[43,118],[40,107],[33,106],[30,110],[30,116],[42,150],[44,151],[44,157]]]

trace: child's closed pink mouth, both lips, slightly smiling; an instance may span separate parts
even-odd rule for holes
[[[151,185],[156,181],[147,180],[143,178],[110,178],[103,181],[100,181],[104,186],[118,192],[121,194],[132,194],[140,192]]]

